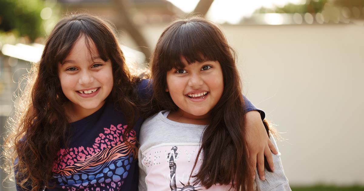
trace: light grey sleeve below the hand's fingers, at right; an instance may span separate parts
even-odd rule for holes
[[[270,136],[274,147],[278,151],[277,144],[273,138]],[[278,151],[277,155],[272,153],[274,172],[269,172],[264,170],[265,180],[261,180],[258,176],[258,170],[256,169],[255,183],[257,186],[257,191],[292,191],[288,184],[288,179],[286,178],[281,162],[281,153]]]

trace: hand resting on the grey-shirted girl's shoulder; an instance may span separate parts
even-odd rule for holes
[[[249,111],[245,114],[246,140],[248,143],[248,153],[250,164],[253,167],[253,179],[255,179],[255,169],[258,164],[258,174],[261,180],[264,176],[264,156],[267,159],[270,169],[274,171],[272,153],[278,154],[270,141],[267,131],[265,130],[260,113],[258,111]]]

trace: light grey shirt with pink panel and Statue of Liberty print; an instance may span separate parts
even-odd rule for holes
[[[148,118],[141,127],[139,143],[139,191],[173,191],[190,188],[202,191],[227,191],[231,185],[214,185],[209,189],[193,185],[190,177],[197,157],[204,125],[178,123],[167,119],[169,111],[161,111]],[[271,138],[274,147],[276,142]],[[203,151],[202,151],[203,152]],[[256,172],[258,191],[290,191],[284,175],[280,153],[273,154],[274,172],[265,171],[266,180]],[[201,155],[194,172],[201,165]]]

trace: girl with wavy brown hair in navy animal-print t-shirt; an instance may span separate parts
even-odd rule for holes
[[[109,24],[87,14],[60,20],[7,123],[17,190],[137,190],[137,105],[149,93],[139,81]]]

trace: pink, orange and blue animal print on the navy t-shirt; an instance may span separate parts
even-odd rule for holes
[[[58,184],[68,190],[88,190],[88,187],[90,190],[106,187],[107,190],[118,190],[133,160],[131,148],[122,138],[126,127],[119,124],[104,128],[92,147],[61,149],[53,167]],[[126,139],[135,144],[135,131],[128,133]]]

